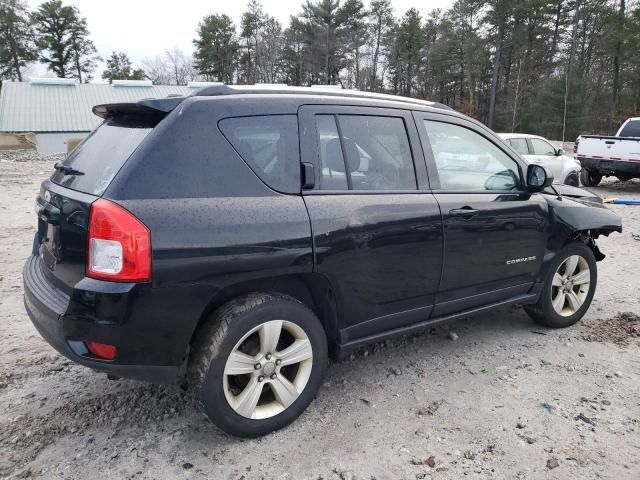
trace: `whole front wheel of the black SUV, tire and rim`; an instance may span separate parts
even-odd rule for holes
[[[552,261],[538,302],[525,311],[546,327],[573,325],[589,309],[597,281],[593,251],[584,243],[570,243]]]

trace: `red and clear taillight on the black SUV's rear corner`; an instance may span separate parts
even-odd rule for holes
[[[151,278],[149,229],[120,205],[100,198],[91,205],[87,276],[113,282]]]

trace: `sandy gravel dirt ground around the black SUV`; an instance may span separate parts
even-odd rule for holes
[[[179,387],[110,381],[36,333],[21,269],[54,159],[35,157],[0,152],[0,478],[640,478],[640,206],[611,207],[624,233],[599,242],[580,325],[512,308],[360,350],[293,425],[243,441]]]

